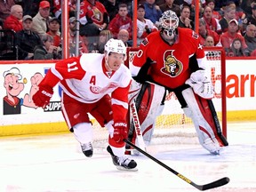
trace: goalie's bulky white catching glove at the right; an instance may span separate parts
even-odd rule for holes
[[[204,76],[204,70],[193,72],[185,84],[189,84],[200,97],[204,99],[213,98],[212,82]]]

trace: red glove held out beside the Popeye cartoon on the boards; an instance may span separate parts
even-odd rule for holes
[[[32,100],[37,107],[44,108],[52,98],[53,90],[50,86],[40,86],[39,90],[33,95]]]

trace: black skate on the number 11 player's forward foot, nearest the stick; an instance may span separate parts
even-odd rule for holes
[[[107,151],[111,155],[113,164],[116,165],[116,168],[118,170],[132,172],[138,171],[138,169],[136,168],[137,163],[134,160],[129,159],[127,156],[115,156],[109,146],[107,148]]]

